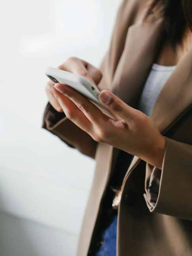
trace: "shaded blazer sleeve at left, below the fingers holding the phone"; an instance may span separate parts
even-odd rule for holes
[[[42,128],[58,136],[70,147],[94,158],[97,142],[71,122],[64,112],[56,111],[50,103],[47,104],[44,112]]]

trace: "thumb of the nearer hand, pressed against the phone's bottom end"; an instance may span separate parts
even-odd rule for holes
[[[135,109],[121,101],[121,99],[119,99],[113,93],[106,90],[101,91],[99,100],[112,113],[117,114],[124,120],[132,120],[132,118],[134,118]]]

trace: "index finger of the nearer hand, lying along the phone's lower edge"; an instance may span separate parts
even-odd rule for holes
[[[110,118],[106,116],[98,107],[86,99],[83,95],[62,83],[57,83],[54,87],[67,96],[84,113],[84,115],[96,126],[104,125],[104,121]]]

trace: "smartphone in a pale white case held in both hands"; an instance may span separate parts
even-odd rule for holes
[[[94,103],[104,114],[115,120],[108,109],[100,103],[98,97],[100,91],[88,79],[71,72],[51,67],[46,68],[45,74],[54,84],[63,83],[75,89]]]

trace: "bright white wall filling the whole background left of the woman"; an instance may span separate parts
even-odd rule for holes
[[[75,255],[94,161],[42,130],[46,66],[99,66],[120,0],[8,0],[0,16],[0,256]]]

